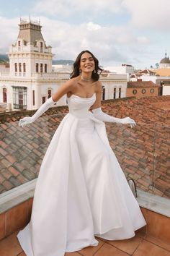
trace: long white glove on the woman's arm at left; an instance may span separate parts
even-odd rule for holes
[[[52,97],[48,98],[48,100],[45,101],[45,103],[43,103],[42,106],[40,106],[40,108],[38,108],[38,110],[35,112],[33,116],[26,116],[23,119],[20,119],[19,127],[25,127],[27,124],[33,123],[33,121],[35,121],[39,116],[41,116],[45,111],[47,111],[48,108],[50,108],[50,106],[53,106],[54,103],[55,101],[53,101]]]

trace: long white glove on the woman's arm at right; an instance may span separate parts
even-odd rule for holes
[[[135,121],[133,119],[131,119],[130,117],[125,117],[125,118],[120,119],[117,117],[109,116],[108,114],[106,114],[102,111],[102,108],[92,109],[92,112],[94,114],[94,117],[96,117],[97,119],[99,119],[101,121],[108,121],[111,123],[118,123],[118,124],[130,124],[131,128],[135,127],[135,125],[136,125]]]

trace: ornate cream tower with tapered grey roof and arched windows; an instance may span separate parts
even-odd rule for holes
[[[20,20],[16,43],[9,48],[11,77],[34,76],[52,72],[51,46],[42,37],[40,21]]]

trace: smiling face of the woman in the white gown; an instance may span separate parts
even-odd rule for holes
[[[81,55],[80,59],[80,69],[81,72],[92,72],[95,68],[94,59],[89,53],[84,53]]]

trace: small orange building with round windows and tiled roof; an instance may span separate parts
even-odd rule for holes
[[[151,81],[138,80],[128,82],[127,97],[135,96],[136,98],[158,96],[159,85]]]

